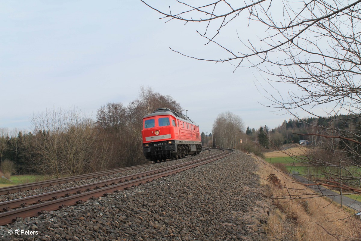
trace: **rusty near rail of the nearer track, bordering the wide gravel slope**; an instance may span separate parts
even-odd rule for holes
[[[224,158],[233,153],[233,150],[231,150],[231,149],[224,149],[224,150],[229,150],[230,152],[225,153],[225,151],[224,151],[224,152],[222,152],[223,155],[221,154],[221,155],[217,155],[217,157],[206,158],[208,160],[203,160],[201,162],[193,163],[193,164],[190,164],[187,166],[182,166],[177,169],[171,169],[169,171],[156,173],[149,177],[142,177],[142,178],[124,182],[121,184],[107,186],[105,188],[96,189],[96,190],[88,191],[85,193],[80,193],[80,194],[72,195],[69,197],[56,199],[53,201],[39,203],[39,204],[32,205],[29,207],[23,207],[23,208],[19,208],[16,210],[0,213],[0,225],[5,225],[8,223],[11,223],[12,221],[15,221],[16,218],[18,218],[18,217],[22,217],[22,218],[33,217],[33,216],[42,214],[44,211],[54,211],[54,210],[61,209],[64,206],[71,206],[71,205],[82,203],[89,199],[95,199],[95,198],[98,198],[101,196],[106,196],[109,194],[109,192],[117,192],[120,190],[124,190],[126,188],[131,188],[133,186],[138,186],[138,185],[144,184],[144,182],[150,182],[150,181],[156,180],[160,177],[169,176],[174,173],[178,173],[178,172],[181,172],[181,171],[184,171],[187,169],[191,169],[193,167],[197,167],[197,166],[209,163],[209,162],[213,162],[214,160]]]

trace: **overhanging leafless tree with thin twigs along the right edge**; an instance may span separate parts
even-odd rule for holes
[[[169,8],[168,2],[167,6],[154,6],[141,1],[166,20],[203,22],[198,33],[206,44],[221,48],[225,56],[206,59],[173,51],[198,60],[230,62],[235,69],[257,69],[266,81],[260,82],[260,91],[273,102],[271,107],[298,120],[305,113],[319,119],[306,123],[305,138],[326,152],[315,149],[305,161],[322,167],[337,166],[343,171],[332,176],[340,182],[357,180],[355,165],[358,167],[361,159],[360,0],[278,4],[267,0],[210,0],[202,5],[175,0]],[[230,38],[222,38],[222,34],[234,27],[235,21],[261,30],[255,33],[258,40],[239,34],[236,38],[240,44],[230,45]],[[273,87],[276,82],[291,85],[282,91]],[[265,86],[267,83],[269,86]],[[315,108],[323,108],[323,112]]]

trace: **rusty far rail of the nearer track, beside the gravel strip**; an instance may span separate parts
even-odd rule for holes
[[[215,158],[219,155],[222,155],[223,152],[213,155],[213,156],[210,156],[209,158]],[[117,182],[124,182],[124,181],[127,181],[132,178],[140,178],[140,176],[144,177],[144,176],[154,175],[155,173],[169,171],[172,168],[174,169],[174,168],[178,168],[180,166],[191,165],[196,162],[201,162],[205,159],[207,159],[207,158],[201,158],[201,159],[192,160],[192,161],[181,163],[181,164],[171,165],[168,167],[163,167],[163,168],[153,169],[150,171],[135,173],[132,175],[116,177],[116,178],[112,178],[112,179],[108,179],[108,180],[84,184],[81,186],[75,186],[75,187],[71,187],[71,188],[67,188],[67,189],[56,190],[56,191],[51,191],[48,193],[42,193],[42,194],[32,195],[29,197],[23,197],[23,198],[13,199],[13,200],[5,201],[5,202],[0,202],[0,211],[1,210],[9,211],[10,209],[13,209],[13,208],[26,207],[27,205],[31,205],[34,203],[41,203],[41,202],[48,201],[51,199],[58,199],[58,198],[64,197],[65,195],[69,196],[71,194],[82,193],[83,191],[90,191],[91,189],[96,189],[96,188],[104,187],[107,185],[116,185]]]

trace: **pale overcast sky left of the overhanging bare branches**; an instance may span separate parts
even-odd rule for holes
[[[258,103],[267,100],[255,70],[232,73],[228,63],[172,52],[217,54],[197,26],[159,17],[137,0],[0,1],[0,127],[32,130],[29,117],[54,106],[95,119],[106,103],[136,99],[142,85],[173,96],[203,132],[225,111],[256,129],[290,118]]]

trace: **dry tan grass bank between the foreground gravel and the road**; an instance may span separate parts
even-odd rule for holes
[[[297,184],[289,177],[282,176],[268,163],[258,161],[261,185],[266,188],[266,195],[277,197],[292,194],[308,194],[303,185]],[[266,179],[270,173],[280,179],[282,186],[278,188]],[[311,195],[308,195],[310,197]],[[352,216],[353,211],[341,210],[337,205],[330,205],[330,201],[322,198],[275,198],[273,210],[268,219],[269,240],[360,240],[361,222]]]

